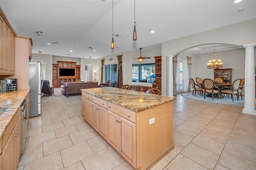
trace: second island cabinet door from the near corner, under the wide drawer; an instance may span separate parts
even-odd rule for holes
[[[107,141],[113,148],[119,151],[119,124],[118,118],[119,116],[111,111],[107,111],[108,115],[108,134]]]

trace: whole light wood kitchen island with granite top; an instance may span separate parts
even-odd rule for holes
[[[135,169],[174,148],[174,97],[115,87],[82,89],[82,116]]]

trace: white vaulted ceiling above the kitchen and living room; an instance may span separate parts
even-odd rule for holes
[[[113,11],[112,0],[0,0],[0,6],[18,35],[32,37],[32,53],[93,59],[256,18],[256,0],[136,0],[133,41],[134,0],[114,0]]]

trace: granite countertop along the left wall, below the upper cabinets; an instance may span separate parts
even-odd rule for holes
[[[0,108],[8,107],[8,109],[0,116],[0,138],[29,91],[29,89],[24,89],[0,93]]]

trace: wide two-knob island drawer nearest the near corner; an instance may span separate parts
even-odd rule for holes
[[[133,123],[136,123],[136,113],[133,111],[130,111],[128,109],[125,109],[121,106],[115,105],[113,103],[108,102],[108,110],[116,113],[117,115],[127,119],[128,121],[131,121]]]

